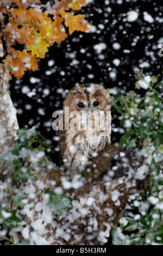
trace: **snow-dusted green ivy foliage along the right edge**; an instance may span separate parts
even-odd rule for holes
[[[137,154],[147,159],[137,169],[135,179],[144,179],[150,164],[149,190],[141,201],[134,200],[133,204],[126,206],[120,224],[112,230],[112,243],[162,245],[163,194],[159,190],[163,187],[163,98],[158,90],[162,88],[163,82],[158,82],[156,76],[147,77],[141,71],[136,72],[135,78],[136,88],[148,91],[141,97],[134,91],[125,93],[121,90],[115,96],[115,102],[120,105],[114,103],[114,108],[122,114],[121,125],[126,129],[121,137],[121,147],[126,146],[128,150],[143,147]],[[134,195],[131,198],[134,199]],[[134,214],[136,211],[139,215]],[[130,235],[125,235],[123,231],[129,231]]]

